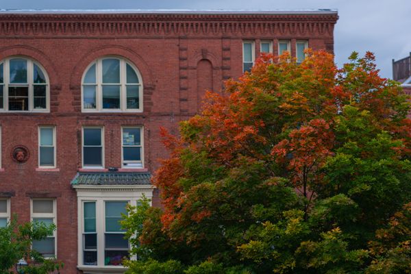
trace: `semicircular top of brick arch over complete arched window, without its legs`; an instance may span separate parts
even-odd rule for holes
[[[86,71],[87,66],[94,60],[103,58],[107,55],[119,56],[132,62],[138,71],[140,71],[144,88],[150,88],[153,86],[153,76],[147,62],[145,62],[145,60],[143,60],[142,57],[135,51],[117,45],[99,47],[84,54],[82,58],[80,58],[80,61],[75,65],[73,72],[71,73],[70,86],[75,89],[81,86],[82,76],[84,71]]]

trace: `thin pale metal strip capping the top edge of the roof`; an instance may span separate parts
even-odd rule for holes
[[[0,9],[0,14],[338,14],[336,9],[319,10],[19,10]]]

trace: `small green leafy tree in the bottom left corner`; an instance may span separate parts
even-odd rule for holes
[[[58,271],[64,266],[62,262],[46,259],[32,249],[33,240],[42,240],[55,230],[55,225],[45,223],[19,224],[14,215],[6,227],[0,227],[0,273],[14,273],[18,260],[24,259],[27,266],[22,266],[25,274],[47,274]]]

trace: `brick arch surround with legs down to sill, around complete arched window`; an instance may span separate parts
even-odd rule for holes
[[[73,72],[71,73],[70,89],[73,94],[73,106],[76,111],[82,109],[82,76],[87,66],[98,58],[104,56],[113,55],[125,58],[132,62],[138,71],[140,72],[143,85],[143,104],[144,112],[150,112],[153,102],[151,101],[151,95],[153,94],[154,84],[153,75],[149,69],[149,65],[142,59],[138,53],[132,51],[132,49],[121,47],[118,45],[108,45],[105,47],[99,47],[97,49],[91,49],[80,58],[80,61],[75,65]]]

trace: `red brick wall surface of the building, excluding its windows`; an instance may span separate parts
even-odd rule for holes
[[[41,64],[50,81],[50,111],[0,112],[0,196],[11,212],[30,220],[30,198],[57,203],[57,256],[62,273],[77,271],[77,195],[71,180],[82,169],[82,126],[103,125],[105,168],[121,167],[121,126],[144,126],[144,168],[153,173],[166,151],[159,127],[177,132],[177,122],[199,110],[203,90],[221,90],[242,74],[242,41],[308,40],[308,47],[334,47],[334,11],[219,13],[2,13],[0,60],[23,56]],[[144,86],[141,113],[82,112],[82,75],[97,58],[115,55],[132,62]],[[6,92],[6,90],[5,90]],[[38,126],[56,129],[56,169],[38,169]],[[24,145],[29,160],[12,160]],[[153,205],[160,206],[158,195]]]

